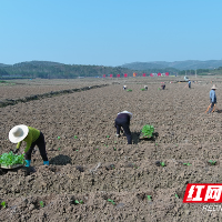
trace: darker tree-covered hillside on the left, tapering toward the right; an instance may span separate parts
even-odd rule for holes
[[[133,70],[123,67],[103,67],[103,65],[80,65],[80,64],[63,64],[50,61],[30,61],[20,62],[13,65],[0,67],[0,75],[19,77],[19,78],[44,78],[44,79],[73,79],[79,77],[108,77],[120,74],[123,77],[128,73],[129,77],[137,72],[138,75],[151,72],[171,72],[176,73],[173,68],[168,69],[149,69],[149,70]]]

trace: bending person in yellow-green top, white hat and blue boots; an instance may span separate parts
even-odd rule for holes
[[[46,151],[44,135],[42,132],[34,128],[27,127],[24,124],[16,125],[9,131],[9,140],[12,143],[18,143],[14,153],[18,153],[22,141],[27,142],[27,148],[24,149],[26,154],[26,167],[31,164],[31,153],[34,145],[38,145],[40,154],[43,160],[44,165],[49,165],[49,160]]]

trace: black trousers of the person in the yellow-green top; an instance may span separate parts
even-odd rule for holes
[[[43,161],[48,161],[48,157],[47,157],[47,151],[46,151],[46,142],[44,142],[44,135],[42,134],[42,132],[40,132],[39,138],[31,143],[30,149],[28,150],[28,152],[26,153],[26,160],[31,160],[31,153],[34,149],[34,147],[39,148],[40,154],[42,157]]]

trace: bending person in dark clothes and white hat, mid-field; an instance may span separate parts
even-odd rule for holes
[[[121,129],[121,128],[123,128],[124,133],[128,138],[128,144],[132,144],[132,135],[131,135],[130,128],[129,128],[131,118],[132,118],[131,112],[123,111],[123,112],[118,113],[118,117],[114,121],[114,127],[117,128],[117,137],[118,138],[120,137],[120,130],[121,130],[121,132],[123,132]]]

